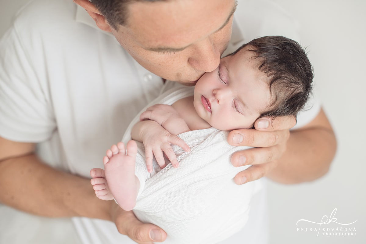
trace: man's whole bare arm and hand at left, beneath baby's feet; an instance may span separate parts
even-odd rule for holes
[[[114,201],[98,199],[89,179],[44,164],[31,154],[34,148],[33,143],[0,137],[1,203],[46,217],[78,216],[113,221],[120,233],[141,244],[166,239],[167,234],[161,228],[143,224],[132,211],[123,211]],[[103,175],[101,169],[95,173],[98,177]]]

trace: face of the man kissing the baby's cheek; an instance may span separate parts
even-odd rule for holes
[[[154,74],[195,82],[216,69],[231,37],[235,0],[133,2],[118,42]]]

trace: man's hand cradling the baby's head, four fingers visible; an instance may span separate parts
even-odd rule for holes
[[[240,185],[258,180],[277,166],[277,159],[286,151],[290,137],[289,129],[296,124],[295,117],[263,117],[254,123],[255,129],[238,129],[228,135],[228,143],[233,146],[250,146],[252,149],[236,152],[231,163],[235,167],[252,165],[239,172],[234,180]]]

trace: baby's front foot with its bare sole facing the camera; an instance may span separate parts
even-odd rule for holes
[[[130,140],[127,150],[124,143],[119,142],[107,151],[103,158],[105,178],[108,187],[117,203],[124,210],[135,207],[138,185],[135,177],[137,144]]]

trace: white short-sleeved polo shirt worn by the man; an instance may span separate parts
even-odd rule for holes
[[[264,35],[299,40],[294,23],[272,2],[239,0],[227,53]],[[90,177],[91,168],[102,168],[105,150],[122,139],[132,118],[162,86],[160,77],[98,29],[84,9],[70,0],[34,0],[0,41],[0,135],[36,142],[48,164]],[[297,126],[311,121],[319,108],[315,103],[302,113]],[[265,192],[253,199],[249,227],[222,243],[266,243]],[[11,242],[20,230],[19,243],[134,243],[112,222],[99,219],[72,218],[76,236],[67,219],[6,206],[0,206],[0,215],[5,217],[0,219],[0,243]],[[66,229],[68,233],[57,234]]]

